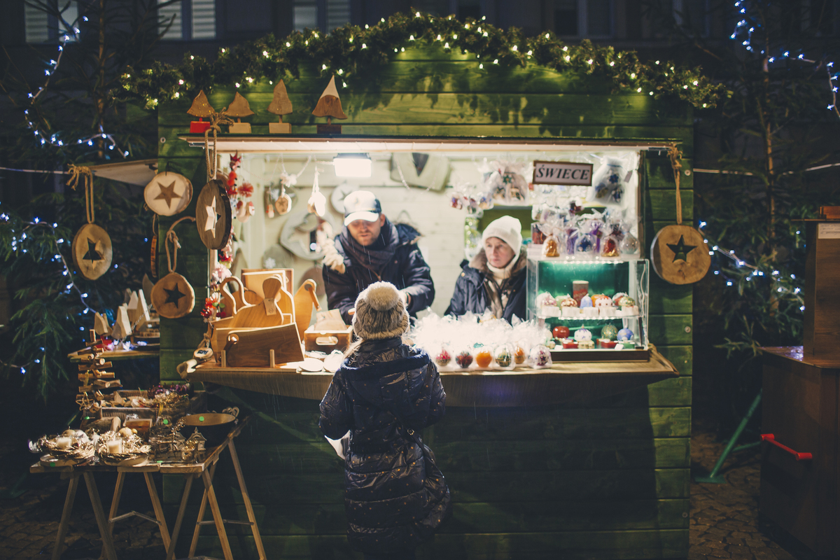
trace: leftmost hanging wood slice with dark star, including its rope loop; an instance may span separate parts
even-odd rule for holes
[[[79,228],[73,238],[73,262],[87,280],[97,280],[111,268],[113,249],[108,232],[93,223],[93,174],[89,167],[70,165],[71,178],[67,185],[76,190],[79,181],[85,189],[87,224]]]

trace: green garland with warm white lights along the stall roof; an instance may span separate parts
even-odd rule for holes
[[[437,44],[446,51],[492,60],[485,67],[542,65],[559,72],[601,76],[612,81],[617,92],[647,93],[655,98],[676,97],[694,107],[715,107],[725,88],[712,83],[697,68],[671,63],[643,64],[634,52],[616,52],[583,40],[565,44],[552,33],[525,37],[519,29],[507,31],[487,24],[484,18],[460,22],[453,16],[428,13],[398,13],[373,26],[345,25],[329,34],[307,29],[286,39],[269,34],[262,39],[221,49],[215,61],[185,55],[179,66],[155,61],[150,68],[129,68],[122,76],[124,92],[118,97],[141,97],[147,108],[164,100],[194,97],[215,86],[247,89],[260,81],[273,84],[286,74],[300,75],[301,65],[320,68],[323,76],[339,76],[342,87],[353,84],[375,65],[417,42]],[[364,81],[359,81],[364,86]]]

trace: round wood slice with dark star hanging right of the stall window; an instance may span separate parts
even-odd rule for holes
[[[654,271],[671,284],[693,284],[709,270],[711,257],[703,234],[690,226],[665,226],[650,244]]]

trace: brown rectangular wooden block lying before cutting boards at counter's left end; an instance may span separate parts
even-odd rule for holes
[[[271,350],[274,350],[275,364],[303,359],[301,339],[294,323],[244,331],[233,329],[228,332],[227,340],[228,368],[266,368],[270,365]]]

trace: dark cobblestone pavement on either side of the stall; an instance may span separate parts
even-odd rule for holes
[[[691,439],[691,463],[696,473],[711,470],[723,449],[711,430],[695,425]],[[0,445],[0,456],[9,448]],[[31,456],[29,456],[31,458]],[[6,471],[8,473],[8,471]],[[690,560],[790,560],[796,556],[759,532],[759,453],[736,453],[722,474],[729,484],[691,484]],[[0,479],[0,492],[15,480]],[[19,471],[18,475],[19,477]],[[113,479],[100,478],[99,493],[106,508],[113,493]],[[134,481],[137,483],[137,481]],[[39,558],[51,555],[55,531],[66,496],[66,481],[55,475],[30,476],[28,491],[18,498],[0,500],[0,558]],[[123,489],[120,513],[137,510],[154,516],[144,484],[131,492],[129,480]],[[66,539],[63,560],[98,558],[101,548],[87,489],[80,482],[76,506]],[[114,528],[114,545],[121,560],[163,557],[164,547],[156,526],[139,518],[120,521]]]

